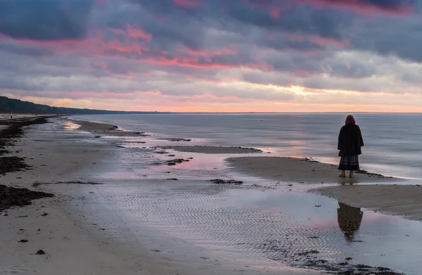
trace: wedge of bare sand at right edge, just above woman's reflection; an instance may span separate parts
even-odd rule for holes
[[[344,185],[313,190],[354,207],[422,221],[420,185]]]

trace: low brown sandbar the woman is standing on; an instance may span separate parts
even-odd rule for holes
[[[354,178],[340,178],[336,165],[316,162],[309,158],[241,157],[227,158],[228,164],[240,172],[265,179],[312,184],[364,183],[393,181],[379,174],[354,174]]]

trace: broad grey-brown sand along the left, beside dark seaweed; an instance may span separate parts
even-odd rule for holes
[[[117,148],[88,141],[95,140],[98,131],[110,131],[114,127],[87,123],[83,131],[92,134],[82,134],[64,129],[66,121],[58,120],[61,122],[39,121],[32,126],[31,121],[24,120],[24,127],[15,125],[23,130],[15,136],[18,139],[4,144],[6,152],[1,158],[18,158],[18,163],[26,165],[23,168],[12,165],[13,169],[2,171],[0,177],[4,188],[18,188],[19,192],[44,191],[51,198],[32,200],[26,206],[12,202],[17,207],[1,210],[0,273],[238,273],[232,269],[235,266],[207,263],[199,257],[195,261],[174,262],[171,257],[159,255],[158,250],[146,248],[113,210],[96,207],[102,196],[91,174],[107,171]],[[5,124],[10,127],[8,122]],[[6,132],[2,134],[8,129],[4,127],[2,131]],[[11,193],[1,196],[8,199]],[[95,197],[98,200],[94,200]],[[92,203],[88,204],[88,201]],[[89,205],[92,208],[88,208]],[[108,217],[107,222],[101,217]],[[115,229],[110,231],[108,228]],[[186,256],[181,254],[181,257]],[[244,274],[273,274],[274,271],[248,269]],[[288,271],[280,269],[276,274],[314,274],[314,271],[289,268]]]

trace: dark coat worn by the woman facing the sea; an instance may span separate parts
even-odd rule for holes
[[[364,139],[359,126],[356,124],[345,124],[338,134],[337,149],[339,156],[350,156],[362,154],[361,147],[364,146]]]

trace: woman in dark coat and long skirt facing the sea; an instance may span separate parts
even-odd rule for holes
[[[364,139],[359,126],[357,126],[352,115],[347,115],[345,126],[341,127],[338,134],[338,155],[341,170],[340,177],[346,177],[345,170],[349,170],[349,177],[354,178],[353,171],[359,170],[359,155],[362,154],[361,147],[364,146]]]

